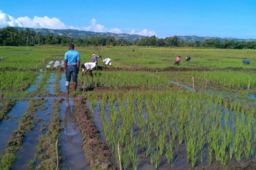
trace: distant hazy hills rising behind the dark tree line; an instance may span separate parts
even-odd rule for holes
[[[14,27],[15,29],[18,30],[25,30],[26,28],[24,27]],[[77,29],[32,29],[35,32],[41,32],[42,35],[48,35],[49,33],[52,33],[53,35],[67,35],[72,38],[90,38],[90,37],[114,37],[117,40],[128,40],[129,42],[133,43],[135,40],[140,40],[142,38],[148,38],[147,36],[142,36],[142,35],[129,35],[129,34],[116,34],[112,32],[90,32],[90,31],[81,31]],[[191,35],[191,36],[177,36],[180,40],[183,40],[184,42],[203,42],[204,40],[215,40],[218,39],[221,42],[224,40],[235,40],[238,42],[241,41],[256,41],[256,39],[239,39],[239,38],[218,38],[218,37],[198,37],[196,35]],[[164,38],[165,39],[165,38]]]

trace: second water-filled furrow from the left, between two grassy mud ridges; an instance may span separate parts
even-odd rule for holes
[[[38,114],[37,124],[34,129],[24,137],[23,146],[15,154],[16,159],[12,167],[13,170],[27,169],[27,163],[34,157],[35,146],[38,145],[37,138],[47,132],[46,124],[49,123],[52,117],[52,102],[53,99],[48,99],[48,102],[38,107],[38,111],[36,112]]]

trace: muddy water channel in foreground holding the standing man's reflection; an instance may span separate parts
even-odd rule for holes
[[[60,132],[60,155],[62,162],[61,169],[89,169],[82,149],[82,137],[77,126],[74,103],[72,99],[66,98],[60,104],[60,118],[63,118],[63,131]]]

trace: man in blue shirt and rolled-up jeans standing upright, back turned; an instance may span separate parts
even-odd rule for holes
[[[73,79],[74,91],[77,89],[77,74],[80,67],[80,53],[75,50],[73,43],[69,44],[69,51],[65,53],[64,70],[66,74],[66,95],[69,94],[69,82]]]

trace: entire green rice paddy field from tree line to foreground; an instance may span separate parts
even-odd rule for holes
[[[256,169],[255,50],[75,49],[66,96],[68,47],[0,47],[0,169]]]

